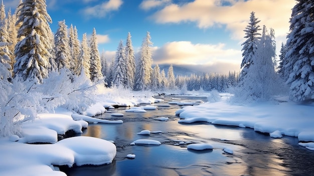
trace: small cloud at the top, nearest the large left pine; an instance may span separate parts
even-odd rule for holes
[[[122,0],[109,0],[94,7],[84,9],[83,14],[87,17],[105,17],[111,11],[117,11],[122,4]]]

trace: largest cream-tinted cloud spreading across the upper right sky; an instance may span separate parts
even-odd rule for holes
[[[223,6],[228,3],[228,6]],[[150,18],[156,23],[195,22],[200,29],[226,25],[231,37],[242,40],[250,13],[261,20],[259,25],[273,28],[276,37],[286,36],[294,0],[195,0],[182,5],[170,4]]]

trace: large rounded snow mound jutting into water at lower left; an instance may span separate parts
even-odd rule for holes
[[[116,155],[116,146],[103,139],[87,136],[70,137],[60,140],[61,145],[73,151],[76,165],[102,165],[112,162]]]

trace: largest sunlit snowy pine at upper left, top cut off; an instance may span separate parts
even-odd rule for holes
[[[22,40],[16,45],[15,77],[42,83],[48,76],[52,58],[52,23],[45,0],[25,0],[19,7],[17,24],[23,23],[18,32]]]

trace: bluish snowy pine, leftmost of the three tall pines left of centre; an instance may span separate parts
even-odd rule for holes
[[[116,87],[125,88],[127,82],[125,52],[122,40],[120,41],[113,67],[112,83]]]

